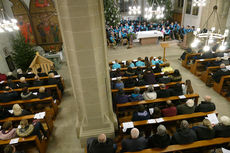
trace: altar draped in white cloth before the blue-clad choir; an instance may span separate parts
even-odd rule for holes
[[[141,45],[157,44],[159,37],[164,37],[161,31],[140,31],[136,33],[137,39],[140,40]]]

